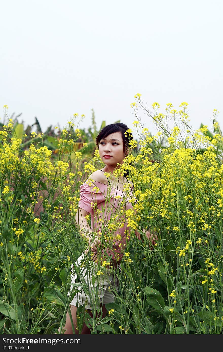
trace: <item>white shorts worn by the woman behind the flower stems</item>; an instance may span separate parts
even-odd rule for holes
[[[88,254],[91,254],[89,252]],[[72,265],[71,285],[68,296],[75,290],[70,301],[73,306],[85,306],[86,309],[99,308],[100,304],[112,303],[118,293],[119,267],[106,268],[91,260],[89,255],[81,254]]]

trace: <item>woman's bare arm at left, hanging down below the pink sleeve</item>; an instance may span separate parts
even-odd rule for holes
[[[91,228],[87,222],[86,215],[90,213],[86,210],[78,207],[78,211],[75,215],[76,224],[78,225],[80,235],[85,238],[91,247],[91,252],[97,252],[97,245],[100,245],[101,242],[97,238],[93,238]]]

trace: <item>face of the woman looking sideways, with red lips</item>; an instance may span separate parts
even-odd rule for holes
[[[101,160],[106,165],[116,168],[117,163],[122,164],[124,159],[123,139],[121,132],[114,132],[100,140],[98,147]]]

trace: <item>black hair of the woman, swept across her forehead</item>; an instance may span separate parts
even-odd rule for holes
[[[121,122],[117,122],[116,124],[110,124],[101,129],[99,132],[95,142],[97,146],[99,147],[100,140],[103,138],[106,138],[109,134],[114,133],[114,132],[121,132],[122,134],[122,139],[123,139],[123,151],[124,151],[124,156],[128,154],[128,149],[129,149],[129,142],[130,140],[133,139],[131,132],[125,134],[125,132],[128,130],[128,127],[125,124],[122,124]]]

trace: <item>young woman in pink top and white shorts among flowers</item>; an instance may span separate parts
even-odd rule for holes
[[[72,284],[69,291],[70,313],[63,328],[64,334],[90,334],[83,323],[78,330],[78,307],[84,307],[91,317],[107,313],[106,303],[114,302],[118,292],[117,274],[125,254],[130,228],[127,225],[126,210],[132,208],[132,186],[124,176],[114,177],[113,172],[123,164],[129,153],[128,127],[122,123],[107,125],[98,134],[96,144],[104,168],[94,171],[80,187],[80,201],[75,216],[80,235],[88,248],[73,265]],[[128,186],[127,186],[128,185]],[[126,187],[127,186],[127,187]],[[91,215],[91,227],[88,224]],[[155,244],[157,236],[143,231]],[[138,239],[141,235],[135,231]],[[78,284],[79,281],[79,284]],[[73,296],[72,296],[73,292]]]

